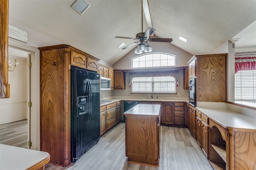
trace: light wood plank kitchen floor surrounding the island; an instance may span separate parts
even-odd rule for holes
[[[125,123],[102,135],[77,162],[62,167],[46,164],[45,170],[213,170],[188,128],[161,126],[160,165],[157,168],[128,163],[125,156]]]

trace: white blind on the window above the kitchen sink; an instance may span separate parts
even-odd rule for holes
[[[174,77],[134,77],[132,78],[133,93],[176,93]]]

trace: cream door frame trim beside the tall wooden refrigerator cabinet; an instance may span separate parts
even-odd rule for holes
[[[36,47],[16,43],[10,39],[8,45],[31,53],[31,149],[40,150],[40,51]]]

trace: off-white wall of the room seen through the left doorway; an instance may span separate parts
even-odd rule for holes
[[[27,59],[15,58],[19,64],[8,72],[10,98],[0,99],[0,124],[27,119]],[[15,58],[9,56],[11,62]]]

